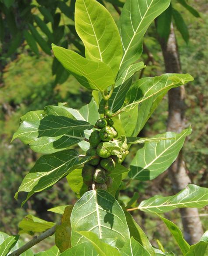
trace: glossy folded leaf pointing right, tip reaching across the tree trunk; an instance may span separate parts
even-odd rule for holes
[[[192,80],[194,80],[194,78],[189,74],[164,74],[158,77],[144,77],[136,81],[129,89],[122,110],[131,110],[138,104],[140,104],[140,108],[146,106],[149,110],[149,115],[145,118],[146,122],[163,96],[171,88],[186,84]],[[143,119],[142,122],[144,122]]]

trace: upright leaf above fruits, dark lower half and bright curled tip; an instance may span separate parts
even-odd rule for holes
[[[115,89],[111,95],[111,98],[108,100],[109,109],[115,113],[120,107],[123,105],[123,102],[126,97],[126,93],[129,90],[134,73],[140,71],[145,68],[143,62],[139,62],[133,65],[130,65],[128,68],[124,70],[122,75],[115,82]],[[99,113],[104,113],[104,100],[102,99],[100,102]]]

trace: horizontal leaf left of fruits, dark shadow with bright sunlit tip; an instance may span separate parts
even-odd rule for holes
[[[41,137],[54,137],[65,135],[72,129],[82,132],[85,129],[91,129],[93,126],[85,121],[77,121],[68,117],[49,115],[41,120],[23,121],[14,133],[12,141],[16,138],[21,139],[25,144],[31,143]]]

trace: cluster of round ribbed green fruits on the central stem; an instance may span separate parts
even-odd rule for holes
[[[86,155],[93,157],[82,168],[82,178],[84,183],[91,189],[92,184],[95,188],[107,190],[112,186],[112,179],[109,174],[114,170],[116,163],[119,162],[117,156],[113,156],[107,150],[103,143],[114,140],[118,136],[118,132],[113,127],[112,112],[107,112],[106,118],[98,119],[95,130],[90,135],[90,149],[87,150]]]

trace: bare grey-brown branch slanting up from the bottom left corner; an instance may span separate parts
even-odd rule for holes
[[[40,234],[39,236],[35,236],[34,238],[32,238],[32,240],[27,242],[25,245],[22,245],[19,249],[17,249],[14,252],[10,253],[9,256],[19,256],[23,252],[25,252],[28,249],[30,249],[32,246],[38,244],[40,241],[43,241],[44,239],[50,237],[51,235],[53,235],[55,233],[56,227],[57,227],[58,224],[54,225],[54,227],[51,227],[50,229],[45,231],[43,234]]]

